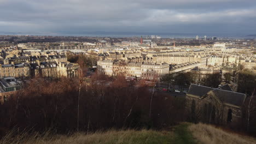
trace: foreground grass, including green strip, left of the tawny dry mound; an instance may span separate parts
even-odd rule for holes
[[[191,143],[193,137],[188,131],[188,124],[180,124],[173,127],[172,130],[109,130],[107,132],[97,132],[86,135],[85,133],[76,133],[70,136],[66,135],[28,135],[22,134],[18,137],[11,137],[11,134],[4,137],[0,144],[4,143],[25,143],[25,144],[65,144],[65,143],[117,143],[117,144],[153,144],[153,143]]]

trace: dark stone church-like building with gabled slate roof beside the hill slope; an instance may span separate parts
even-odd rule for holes
[[[186,94],[186,107],[194,121],[235,124],[242,118],[243,93],[233,92],[228,86],[211,88],[191,84]]]

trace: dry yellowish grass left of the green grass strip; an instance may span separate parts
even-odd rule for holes
[[[11,134],[10,134],[11,135]],[[86,135],[84,133],[77,133],[71,136],[66,135],[50,135],[45,133],[40,135],[27,135],[23,134],[15,139],[9,136],[4,137],[0,141],[1,144],[5,143],[25,143],[25,144],[65,144],[65,143],[168,143],[172,140],[171,133],[167,131],[154,131],[154,130],[125,130],[115,131],[109,130],[105,133],[97,132],[94,134]]]

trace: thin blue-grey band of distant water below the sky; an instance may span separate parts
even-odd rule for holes
[[[78,32],[78,33],[1,33],[0,35],[40,35],[40,36],[73,36],[73,37],[112,37],[112,38],[125,38],[125,37],[146,37],[151,35],[159,35],[162,38],[229,38],[229,39],[255,39],[256,35],[243,35],[243,34],[192,34],[192,33],[139,33],[139,32]]]

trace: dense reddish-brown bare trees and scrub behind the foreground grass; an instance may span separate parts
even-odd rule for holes
[[[6,133],[15,127],[57,133],[77,130],[79,80],[31,80],[26,87],[0,105],[0,128]],[[183,121],[184,98],[154,94],[152,117],[148,87],[135,87],[124,76],[115,79],[94,75],[83,82],[79,99],[79,130],[109,128],[161,128]],[[177,99],[177,100],[174,100]]]

